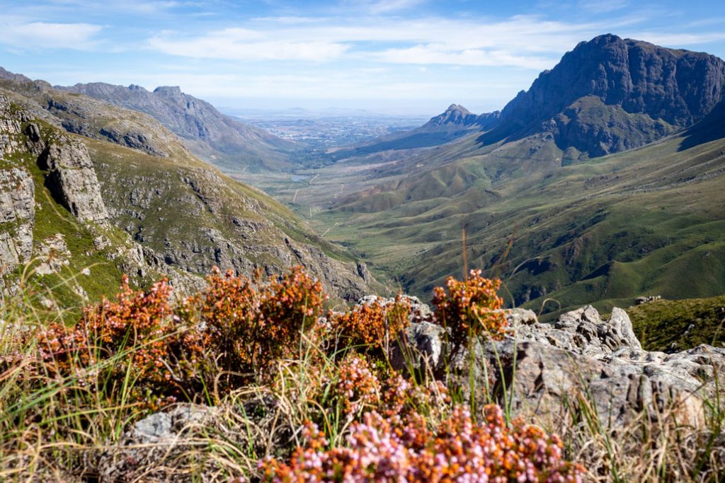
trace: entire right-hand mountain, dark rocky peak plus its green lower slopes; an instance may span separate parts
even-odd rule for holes
[[[545,311],[719,295],[723,67],[603,35],[487,127],[452,106],[426,126],[471,128],[460,138],[352,154],[276,193],[423,297],[464,264],[501,276],[508,303]]]

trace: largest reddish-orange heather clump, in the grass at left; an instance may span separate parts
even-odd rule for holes
[[[209,282],[174,311],[166,280],[144,292],[124,277],[115,302],[104,299],[86,308],[74,327],[51,324],[38,335],[42,369],[83,384],[84,368],[117,358],[101,384],[130,376],[132,399],[155,408],[204,398],[212,385],[227,391],[270,374],[265,370],[273,361],[299,350],[303,333],[316,337],[325,295],[300,267],[265,284],[231,272],[217,272]]]

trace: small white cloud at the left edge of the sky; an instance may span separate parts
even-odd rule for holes
[[[101,30],[88,23],[0,21],[0,43],[16,49],[89,50]]]

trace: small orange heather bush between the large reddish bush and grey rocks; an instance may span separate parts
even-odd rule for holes
[[[389,343],[409,324],[410,304],[398,294],[394,303],[381,299],[355,306],[345,314],[332,317],[332,327],[348,345],[367,345],[387,349]]]

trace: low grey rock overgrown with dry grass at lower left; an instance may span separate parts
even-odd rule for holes
[[[243,473],[245,456],[256,466],[254,454],[289,455],[294,430],[283,411],[264,394],[216,407],[178,404],[136,421],[97,457],[93,476],[118,483],[230,481]]]

